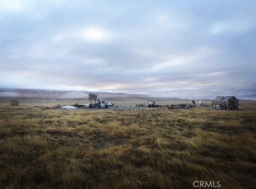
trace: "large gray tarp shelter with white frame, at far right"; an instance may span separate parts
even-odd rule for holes
[[[239,100],[235,96],[217,96],[211,101],[212,105],[218,105],[218,109],[239,109]]]

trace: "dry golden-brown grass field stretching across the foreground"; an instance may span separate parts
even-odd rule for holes
[[[228,111],[19,102],[0,101],[0,188],[187,189],[196,180],[256,188],[255,101]]]

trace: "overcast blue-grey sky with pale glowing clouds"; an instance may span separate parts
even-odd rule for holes
[[[0,88],[256,100],[255,10],[255,0],[0,0]]]

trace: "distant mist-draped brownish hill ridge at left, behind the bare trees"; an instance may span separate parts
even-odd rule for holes
[[[91,91],[52,91],[43,89],[0,89],[0,97],[26,97],[26,98],[88,98]],[[145,97],[140,94],[93,92],[101,97],[125,96]]]

